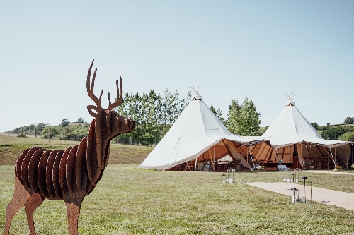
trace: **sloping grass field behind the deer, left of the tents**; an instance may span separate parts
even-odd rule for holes
[[[25,142],[26,140],[26,142]],[[0,135],[0,165],[13,165],[23,150],[42,147],[47,150],[66,149],[78,145],[78,141],[50,140],[42,138],[19,138]],[[135,145],[110,145],[110,164],[139,164],[152,151],[153,147]]]

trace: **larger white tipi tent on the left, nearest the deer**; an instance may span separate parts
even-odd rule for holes
[[[166,170],[193,161],[209,160],[214,167],[217,159],[230,155],[234,161],[252,170],[253,164],[237,150],[240,145],[264,142],[261,137],[241,137],[230,133],[207,107],[198,92],[178,117],[154,150],[138,168]],[[190,169],[190,168],[189,168]]]

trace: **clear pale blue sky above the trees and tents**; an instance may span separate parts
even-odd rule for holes
[[[227,118],[247,96],[269,126],[285,93],[310,122],[354,116],[354,1],[1,1],[0,131],[62,119],[91,121],[96,95],[124,92],[203,100]]]

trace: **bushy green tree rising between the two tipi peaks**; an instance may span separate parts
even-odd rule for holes
[[[227,128],[232,133],[237,135],[258,135],[261,113],[256,112],[256,106],[252,100],[249,101],[246,97],[241,105],[239,105],[237,100],[232,100],[228,116]]]

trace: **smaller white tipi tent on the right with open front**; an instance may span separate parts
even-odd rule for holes
[[[347,141],[324,140],[295,107],[291,98],[262,135],[271,147],[261,143],[252,147],[256,162],[275,165],[279,161],[288,167],[329,169],[331,165],[350,162]]]

